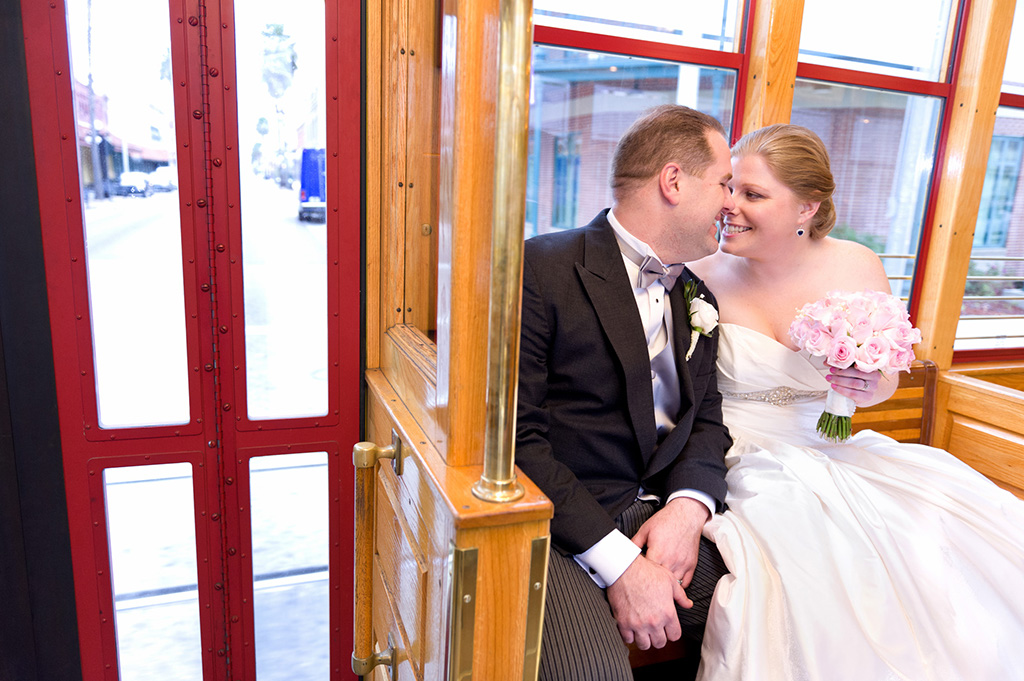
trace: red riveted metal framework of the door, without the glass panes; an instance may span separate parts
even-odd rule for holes
[[[247,481],[251,456],[315,451],[329,455],[331,678],[354,678],[352,545],[343,539],[352,526],[352,469],[341,453],[358,439],[361,421],[362,17],[359,3],[326,6],[328,415],[254,423],[245,414],[233,15],[229,0],[170,0],[190,419],[104,430],[96,420],[65,0],[22,1],[85,681],[117,678],[102,471],[191,465],[204,677],[254,679],[248,484],[232,483]]]

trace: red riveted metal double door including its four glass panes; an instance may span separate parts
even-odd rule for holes
[[[353,678],[358,3],[22,4],[83,678]]]

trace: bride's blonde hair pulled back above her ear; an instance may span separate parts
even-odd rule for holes
[[[768,169],[801,201],[820,202],[811,218],[811,239],[822,239],[836,224],[833,193],[836,180],[824,143],[811,130],[799,125],[769,125],[743,135],[732,146],[732,156],[759,156]]]

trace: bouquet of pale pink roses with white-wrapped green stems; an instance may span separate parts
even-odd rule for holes
[[[895,296],[880,291],[830,291],[797,312],[790,338],[801,349],[825,357],[829,367],[894,373],[910,370],[921,332]],[[833,442],[849,438],[850,417],[856,408],[849,397],[829,390],[818,433]]]

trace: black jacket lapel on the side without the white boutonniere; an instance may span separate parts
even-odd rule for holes
[[[587,229],[584,262],[577,263],[575,267],[601,328],[623,367],[630,419],[646,460],[657,443],[650,359],[623,256],[604,215],[598,216]]]

